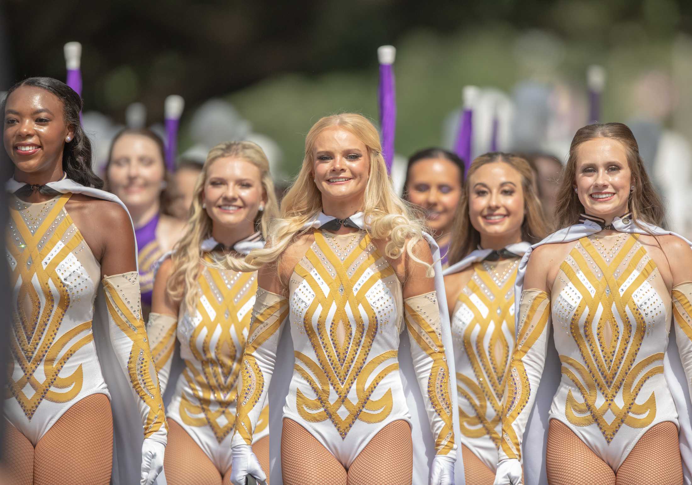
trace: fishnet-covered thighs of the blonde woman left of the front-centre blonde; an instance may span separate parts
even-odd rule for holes
[[[269,437],[253,444],[253,452],[268,476]],[[163,455],[163,469],[168,485],[230,485],[230,468],[223,479],[221,473],[202,448],[181,425],[168,420],[168,444]]]

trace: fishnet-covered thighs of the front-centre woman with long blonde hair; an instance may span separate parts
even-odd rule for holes
[[[312,434],[284,419],[281,468],[285,485],[405,485],[411,483],[413,443],[411,428],[398,420],[386,425],[345,468]]]

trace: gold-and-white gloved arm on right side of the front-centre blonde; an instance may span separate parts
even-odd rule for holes
[[[432,253],[426,241],[414,248],[419,259],[432,264]],[[403,285],[404,319],[412,340],[411,357],[421,394],[435,437],[437,454],[432,461],[430,484],[454,483],[454,465],[457,454],[450,399],[450,378],[442,345],[441,321],[435,280],[426,276],[426,267],[406,257],[406,280]]]

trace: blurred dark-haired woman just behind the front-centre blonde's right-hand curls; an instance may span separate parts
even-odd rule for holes
[[[441,148],[426,148],[408,160],[403,199],[419,205],[446,266],[454,213],[462,195],[464,162]]]

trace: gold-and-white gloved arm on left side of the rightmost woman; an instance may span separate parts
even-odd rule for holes
[[[531,258],[524,277],[514,347],[502,411],[502,437],[498,452],[495,485],[522,482],[522,442],[531,408],[543,374],[547,354],[550,298],[547,293],[549,258],[540,246]]]

